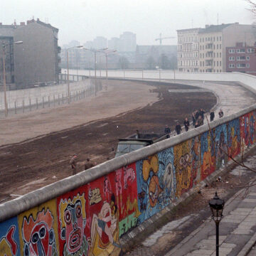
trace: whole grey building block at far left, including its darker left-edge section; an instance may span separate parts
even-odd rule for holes
[[[13,44],[22,41],[20,45]],[[20,25],[0,23],[0,50],[6,45],[6,84],[17,89],[37,83],[58,82],[60,48],[58,28],[37,19]],[[0,61],[0,84],[3,82],[3,63]]]

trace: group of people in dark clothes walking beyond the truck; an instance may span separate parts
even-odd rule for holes
[[[204,114],[206,114],[206,111],[203,110],[202,108],[200,110],[196,110],[192,113],[192,125],[193,125],[193,127],[196,128],[196,127],[200,127],[201,125],[203,125]],[[223,117],[224,116],[223,110],[220,109],[220,111],[218,112],[218,115],[219,115],[220,118]],[[214,118],[215,118],[215,113],[212,110],[210,112],[210,122],[213,122]],[[188,132],[190,122],[188,121],[187,117],[184,120],[183,124],[184,124],[185,131]],[[181,124],[179,122],[177,122],[176,127],[175,127],[175,132],[178,135],[178,134],[181,134],[181,131],[182,131]],[[164,129],[164,133],[168,134],[168,136],[170,137],[171,129],[168,127],[167,124],[166,124],[166,127]]]

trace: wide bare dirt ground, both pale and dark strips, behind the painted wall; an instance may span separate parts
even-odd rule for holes
[[[211,92],[168,91],[187,88],[191,86],[114,81],[110,91],[90,102],[1,121],[0,202],[70,176],[74,153],[82,171],[87,157],[96,164],[113,158],[118,138],[136,129],[163,132],[165,124],[174,129],[176,120],[183,122],[192,110],[215,105]]]

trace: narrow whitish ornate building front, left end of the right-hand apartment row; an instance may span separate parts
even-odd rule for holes
[[[178,30],[178,71],[198,72],[200,28]]]

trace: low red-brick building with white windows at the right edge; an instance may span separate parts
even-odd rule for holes
[[[226,48],[226,71],[256,75],[255,46],[236,43]]]

